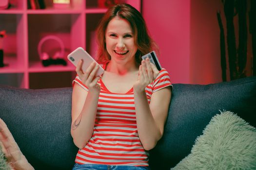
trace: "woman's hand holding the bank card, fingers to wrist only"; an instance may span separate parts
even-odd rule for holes
[[[158,73],[158,68],[150,62],[149,58],[142,60],[139,66],[138,80],[133,85],[134,91],[145,91],[146,86],[157,78]]]

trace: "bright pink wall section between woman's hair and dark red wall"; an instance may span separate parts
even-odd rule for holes
[[[142,15],[172,83],[190,83],[190,0],[144,0]]]

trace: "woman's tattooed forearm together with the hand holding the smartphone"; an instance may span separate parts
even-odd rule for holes
[[[97,84],[99,77],[95,77],[98,66],[91,64],[83,72],[81,70],[82,62],[79,63],[76,71],[82,83],[88,87],[89,91],[84,90],[75,83],[72,93],[72,125],[71,136],[77,147],[84,148],[93,134],[93,128],[96,119],[98,97],[100,87]]]

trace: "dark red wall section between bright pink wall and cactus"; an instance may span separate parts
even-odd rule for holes
[[[220,11],[225,27],[222,9],[221,0],[191,0],[189,76],[192,84],[222,82],[217,21]]]

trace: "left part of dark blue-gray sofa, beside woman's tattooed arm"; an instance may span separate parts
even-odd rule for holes
[[[78,148],[70,135],[72,88],[0,86],[0,118],[36,170],[71,170]]]

